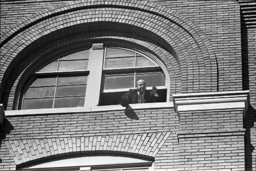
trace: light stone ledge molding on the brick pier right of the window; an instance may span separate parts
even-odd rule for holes
[[[243,110],[245,115],[249,91],[174,94],[173,103],[178,116],[182,113],[239,110]]]

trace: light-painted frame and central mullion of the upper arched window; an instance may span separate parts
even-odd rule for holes
[[[129,50],[133,51],[139,54],[142,54],[143,56],[147,56],[147,59],[150,59],[151,62],[155,63],[156,66],[151,66],[151,67],[127,67],[127,68],[112,68],[112,69],[105,69],[105,53],[106,53],[106,48],[119,48],[119,49],[124,49],[124,50]],[[82,48],[79,48],[82,49]],[[100,94],[101,93],[113,93],[113,92],[127,92],[129,89],[134,89],[135,85],[133,88],[124,88],[124,89],[108,89],[104,90],[103,89],[103,84],[102,80],[103,77],[102,75],[105,73],[112,73],[116,71],[135,71],[136,69],[139,70],[144,70],[148,71],[150,73],[150,70],[154,69],[161,69],[165,75],[165,86],[157,86],[158,90],[161,89],[166,89],[166,102],[169,102],[169,74],[167,68],[164,66],[163,62],[158,59],[156,56],[154,56],[151,53],[145,52],[145,51],[139,51],[134,48],[123,48],[123,47],[118,47],[115,45],[111,46],[103,46],[103,43],[97,43],[97,44],[92,44],[92,48],[90,48],[90,53],[89,53],[89,59],[88,59],[88,68],[87,70],[72,70],[72,71],[54,71],[54,72],[36,72],[36,76],[42,76],[42,75],[59,75],[59,74],[87,74],[88,75],[88,80],[87,80],[87,90],[86,90],[86,96],[84,99],[84,107],[93,107],[93,106],[98,106],[100,102]],[[136,56],[135,56],[136,60]],[[100,71],[100,72],[99,72]],[[136,77],[136,75],[134,75]],[[97,79],[95,79],[97,78]],[[136,79],[136,78],[134,78]],[[135,82],[135,81],[134,81]],[[151,90],[152,87],[147,87],[147,90]],[[22,102],[24,100],[24,95],[22,97]],[[20,102],[19,102],[20,103]],[[22,108],[22,104],[17,105],[17,108]],[[53,106],[54,108],[54,106]],[[56,108],[54,108],[56,109]]]

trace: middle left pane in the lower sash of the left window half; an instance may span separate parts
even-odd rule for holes
[[[25,98],[33,97],[53,97],[55,87],[34,87],[28,88]]]

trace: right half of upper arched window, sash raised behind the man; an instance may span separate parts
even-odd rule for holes
[[[101,105],[118,104],[124,92],[134,88],[137,80],[146,81],[148,90],[155,85],[160,101],[166,101],[165,74],[156,61],[143,52],[106,47],[101,88]]]

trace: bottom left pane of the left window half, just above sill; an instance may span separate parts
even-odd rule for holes
[[[22,109],[52,108],[53,98],[24,99]]]

